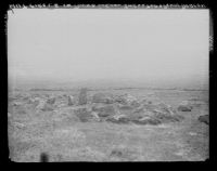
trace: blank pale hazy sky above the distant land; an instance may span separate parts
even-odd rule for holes
[[[9,11],[9,74],[24,78],[204,79],[208,10]]]

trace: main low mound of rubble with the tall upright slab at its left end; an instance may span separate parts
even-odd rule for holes
[[[84,104],[87,104],[87,90],[84,92],[80,91],[79,94],[78,104],[81,105],[81,108],[74,110],[81,122],[107,121],[114,123],[159,124],[183,119],[183,116],[178,115],[169,105],[150,103],[144,98],[138,100],[130,94],[95,93],[92,95],[88,107],[82,107]]]

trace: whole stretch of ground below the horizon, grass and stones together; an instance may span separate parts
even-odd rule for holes
[[[208,92],[16,91],[9,94],[10,158],[49,161],[202,161]]]

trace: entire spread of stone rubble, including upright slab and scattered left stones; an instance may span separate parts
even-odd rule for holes
[[[58,111],[61,114],[64,108],[71,109],[73,115],[81,122],[106,121],[113,123],[136,123],[136,124],[161,124],[166,122],[181,121],[183,116],[169,105],[154,103],[145,97],[137,98],[128,93],[95,93],[89,95],[87,89],[80,89],[78,95],[47,95],[43,97],[29,97],[29,103],[35,104],[38,111]],[[63,103],[64,105],[60,105]],[[59,104],[59,102],[61,102]],[[64,111],[64,113],[67,113]],[[72,116],[72,118],[73,118]]]

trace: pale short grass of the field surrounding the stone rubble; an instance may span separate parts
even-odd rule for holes
[[[197,120],[199,116],[209,114],[207,91],[102,90],[88,91],[88,96],[97,92],[128,93],[164,102],[175,109],[182,101],[202,103],[191,111],[177,110],[184,117],[179,122],[157,126],[80,122],[71,106],[43,111],[17,97],[17,94],[77,95],[77,91],[16,91],[9,94],[10,158],[17,162],[38,162],[41,153],[48,154],[49,161],[203,161],[208,158],[208,124]]]

